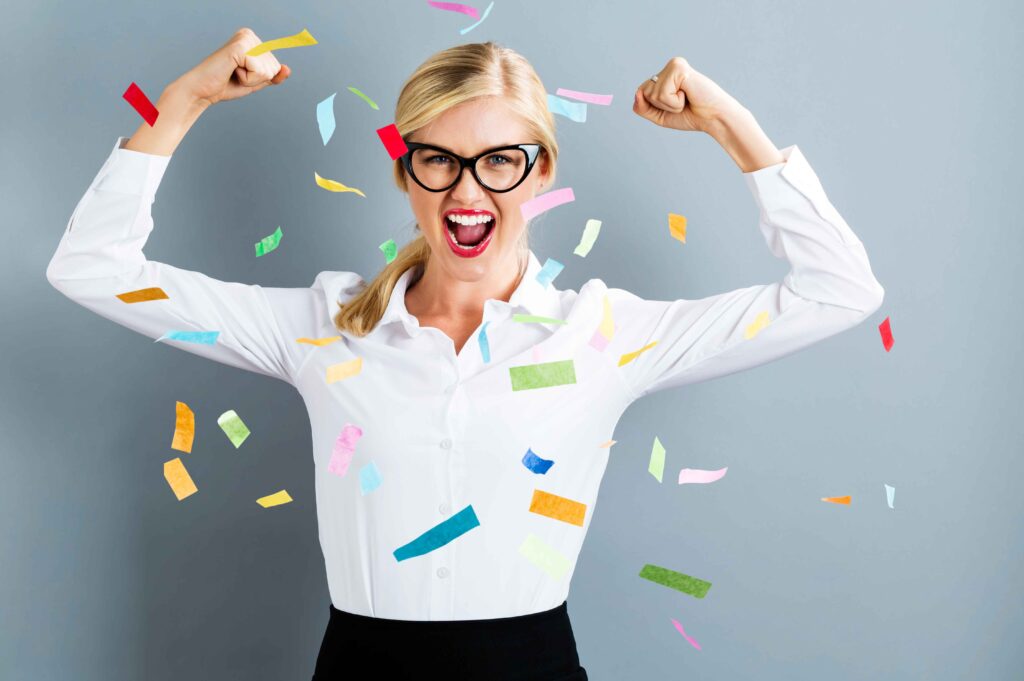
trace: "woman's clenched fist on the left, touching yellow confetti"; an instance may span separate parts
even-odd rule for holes
[[[285,82],[292,70],[282,66],[273,52],[259,56],[246,54],[261,42],[252,29],[239,29],[220,49],[181,76],[177,84],[184,92],[209,105]]]

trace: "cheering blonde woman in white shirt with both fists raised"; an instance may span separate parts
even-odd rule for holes
[[[434,54],[401,90],[410,151],[394,173],[421,233],[369,285],[327,271],[307,289],[261,288],[147,260],[150,206],[185,132],[210,105],[288,78],[272,53],[245,55],[258,43],[239,31],[168,86],[156,125],[119,138],[47,278],[151,338],[219,331],[179,346],[302,394],[332,600],[315,679],[342,678],[353,649],[381,672],[586,679],[565,598],[618,417],[859,324],[883,299],[863,246],[796,146],[777,150],[674,58],[634,112],[723,146],[791,271],[699,300],[539,281],[520,206],[554,182],[554,121],[525,59],[482,43]],[[152,287],[167,298],[116,297]]]

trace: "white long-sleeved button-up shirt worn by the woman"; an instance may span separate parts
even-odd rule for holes
[[[75,302],[150,338],[219,331],[213,345],[165,342],[298,389],[312,427],[331,600],[358,614],[475,620],[559,605],[607,464],[609,449],[600,445],[634,399],[787,355],[856,326],[883,300],[863,245],[792,145],[782,150],[783,163],[743,174],[768,248],[791,265],[781,282],[698,300],[644,300],[599,279],[578,293],[542,286],[530,252],[511,299],[483,306],[489,361],[480,329],[457,354],[446,335],[410,314],[412,270],[372,333],[341,334],[317,347],[296,339],[339,335],[332,317],[361,278],[324,271],[308,288],[267,288],[147,260],[151,206],[170,157],[125,150],[127,139],[118,138],[75,208],[47,279]],[[148,287],[169,298],[128,304],[116,297]],[[591,341],[605,296],[614,331],[599,349]],[[770,324],[749,338],[763,312]],[[565,324],[516,322],[516,313]],[[620,366],[622,355],[650,343]],[[358,357],[360,373],[327,381],[328,367]],[[512,368],[563,360],[571,360],[574,383],[512,389]],[[345,424],[362,436],[342,476],[329,462]],[[554,464],[544,474],[531,471],[522,462],[527,450]],[[187,455],[183,460],[187,466]],[[370,462],[381,483],[362,494],[359,471]],[[582,523],[531,512],[537,490],[586,505]],[[467,507],[478,525],[429,553],[396,558],[396,549]],[[557,555],[542,568],[520,551],[524,543]]]

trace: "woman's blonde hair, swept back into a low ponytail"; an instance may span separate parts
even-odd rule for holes
[[[441,114],[458,104],[479,97],[502,97],[522,117],[530,140],[540,143],[547,157],[549,182],[554,181],[558,160],[555,140],[555,120],[548,110],[548,95],[540,77],[521,54],[494,42],[457,45],[430,56],[406,81],[395,104],[394,124],[402,137],[408,137],[430,124]],[[406,187],[406,168],[401,159],[394,162],[394,181],[401,191]],[[420,225],[416,225],[419,230]],[[520,262],[525,263],[529,249],[529,227],[519,242]],[[353,336],[366,336],[380,322],[391,292],[398,279],[416,267],[419,279],[430,258],[430,245],[422,233],[398,251],[394,260],[378,272],[369,284],[345,303],[334,317],[339,331]],[[521,265],[523,266],[523,265]]]

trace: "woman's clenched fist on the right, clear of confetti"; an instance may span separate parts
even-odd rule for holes
[[[710,132],[723,116],[742,107],[681,56],[669,59],[637,88],[633,111],[664,128]]]

